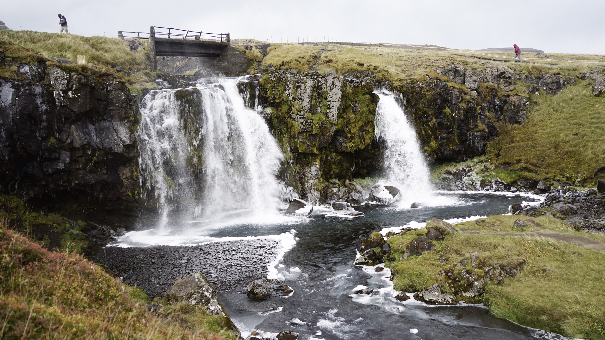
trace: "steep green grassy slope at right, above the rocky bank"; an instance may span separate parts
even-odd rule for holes
[[[497,125],[499,137],[486,152],[492,163],[577,185],[605,178],[595,175],[605,167],[605,98],[580,82],[557,96],[532,95],[531,101],[522,125]]]

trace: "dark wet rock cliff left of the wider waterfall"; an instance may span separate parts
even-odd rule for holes
[[[45,64],[0,79],[0,188],[36,203],[50,195],[105,209],[135,200],[139,104],[125,84]]]

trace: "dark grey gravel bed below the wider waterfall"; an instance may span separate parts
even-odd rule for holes
[[[197,246],[105,247],[93,260],[122,282],[161,296],[179,278],[203,273],[221,293],[246,293],[247,285],[267,276],[280,241],[238,240]]]

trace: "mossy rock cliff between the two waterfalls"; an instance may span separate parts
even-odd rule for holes
[[[363,178],[379,169],[373,84],[333,74],[275,71],[259,85],[263,114],[286,154],[286,183],[310,203],[327,203],[328,195],[359,200],[351,195],[361,195],[358,189],[336,194],[322,183]]]

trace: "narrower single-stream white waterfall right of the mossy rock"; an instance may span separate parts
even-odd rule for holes
[[[402,207],[414,201],[432,205],[432,185],[425,157],[420,151],[416,131],[403,108],[388,91],[377,91],[376,139],[385,143],[383,154],[385,177],[402,191]]]

